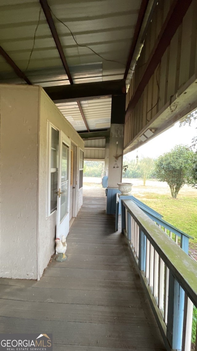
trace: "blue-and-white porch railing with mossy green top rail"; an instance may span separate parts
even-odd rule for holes
[[[163,235],[159,226],[169,224],[161,217],[154,214],[153,221],[152,213],[149,218],[145,213],[149,210],[141,209],[133,200],[122,199],[121,206],[122,232],[127,238],[165,347],[168,351],[190,351],[193,304],[197,306],[197,263],[181,250],[176,240]],[[158,225],[158,221],[162,223]],[[182,245],[189,240],[187,234],[171,225],[167,230],[182,238]],[[195,345],[193,350],[197,350]]]

